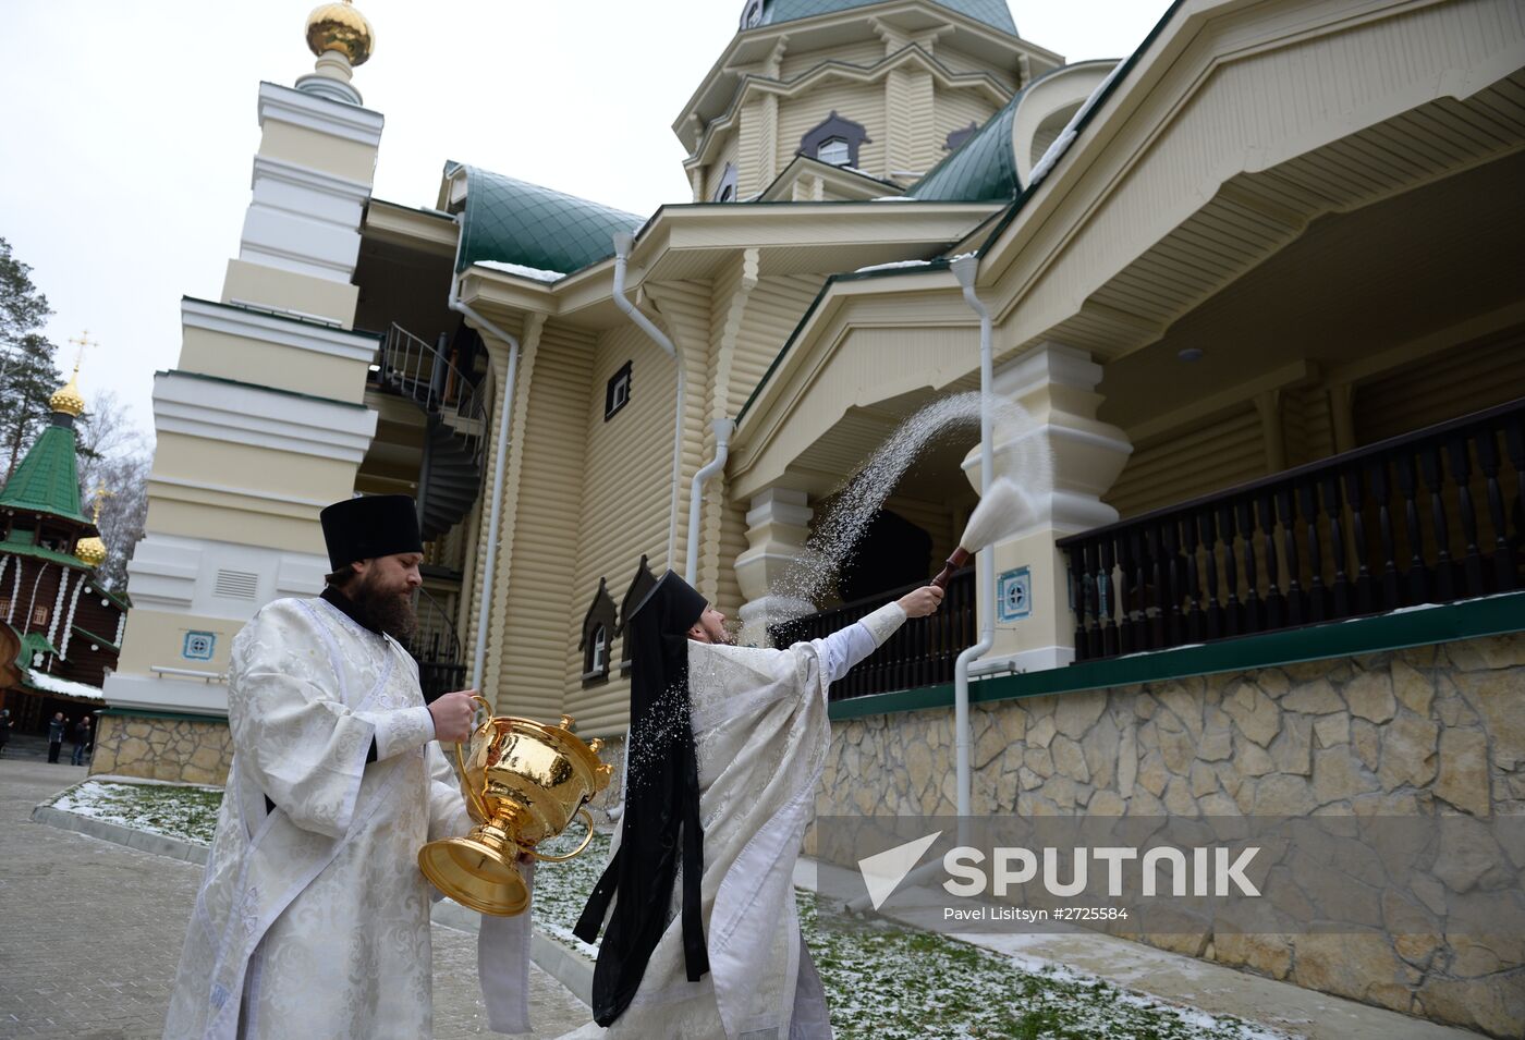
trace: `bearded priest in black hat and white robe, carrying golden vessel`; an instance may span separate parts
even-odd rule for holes
[[[424,842],[471,827],[436,741],[471,691],[425,706],[398,642],[422,560],[415,503],[323,511],[322,598],[278,599],[233,640],[233,761],[165,1023],[166,1040],[432,1035]],[[529,913],[483,918],[494,1029],[526,1032]]]

